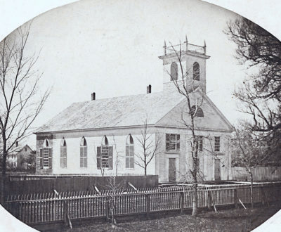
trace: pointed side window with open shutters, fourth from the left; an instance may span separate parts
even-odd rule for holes
[[[101,146],[97,147],[97,168],[112,169],[113,167],[113,146],[109,146],[106,136],[103,136]]]

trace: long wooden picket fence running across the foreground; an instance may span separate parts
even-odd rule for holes
[[[254,202],[280,200],[280,183],[263,183],[254,186]],[[115,216],[150,214],[192,208],[190,186],[148,188],[138,191],[112,193],[60,193],[59,195],[9,196],[6,209],[26,224],[66,221],[70,219],[109,218]],[[200,186],[197,191],[198,207],[237,205],[251,202],[250,186]],[[111,209],[111,210],[110,210]]]

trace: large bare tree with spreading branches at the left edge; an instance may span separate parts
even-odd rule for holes
[[[40,94],[41,73],[35,69],[39,55],[25,53],[30,24],[18,28],[0,43],[1,203],[5,200],[6,158],[31,133],[49,90]]]

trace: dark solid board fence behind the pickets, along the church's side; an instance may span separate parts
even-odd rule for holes
[[[60,177],[55,179],[7,181],[7,195],[21,195],[28,193],[53,193],[71,191],[91,191],[94,186],[99,190],[107,189],[109,176],[75,176]],[[157,187],[158,176],[117,176],[116,183],[122,188],[131,188],[128,183],[136,188]]]

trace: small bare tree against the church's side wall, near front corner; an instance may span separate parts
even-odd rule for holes
[[[155,137],[155,140],[154,140]],[[152,133],[148,128],[148,117],[145,118],[143,122],[143,127],[141,129],[141,136],[136,137],[138,143],[141,144],[141,153],[135,152],[138,159],[135,160],[135,164],[142,167],[145,176],[148,174],[148,165],[152,159],[160,153],[159,146],[161,143],[161,138],[158,134]]]

